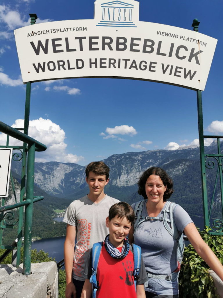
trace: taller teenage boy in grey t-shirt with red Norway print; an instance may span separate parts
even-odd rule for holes
[[[80,298],[85,278],[83,271],[89,250],[108,234],[104,222],[109,208],[119,200],[104,193],[109,182],[109,167],[103,162],[91,162],[85,170],[88,195],[73,201],[63,221],[67,223],[64,243],[66,298]],[[76,246],[75,246],[76,239]],[[75,250],[74,250],[75,247]]]

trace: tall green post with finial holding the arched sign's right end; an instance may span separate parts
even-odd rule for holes
[[[199,24],[200,24],[200,22],[198,22],[198,20],[195,18],[193,21],[193,24],[192,24],[192,27],[194,27],[194,31],[198,32]],[[207,194],[206,170],[205,170],[204,128],[203,128],[203,111],[202,111],[201,90],[197,90],[197,114],[198,114],[198,131],[199,131],[199,144],[200,144],[200,166],[201,166],[204,225],[209,226],[208,194]]]

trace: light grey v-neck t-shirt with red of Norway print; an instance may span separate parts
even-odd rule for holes
[[[106,195],[98,204],[88,196],[73,201],[67,208],[63,221],[76,226],[76,247],[74,251],[73,278],[85,280],[83,271],[89,250],[95,242],[103,241],[109,234],[105,220],[109,209],[119,200]]]

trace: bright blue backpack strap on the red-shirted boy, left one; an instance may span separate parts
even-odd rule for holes
[[[99,287],[97,281],[97,269],[98,269],[98,261],[101,253],[103,242],[97,242],[93,244],[92,247],[92,276],[90,277],[90,283],[92,283],[92,298],[96,297],[96,292]]]

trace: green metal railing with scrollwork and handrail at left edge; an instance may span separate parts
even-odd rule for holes
[[[27,124],[28,125],[28,124]],[[13,148],[22,150],[22,176],[21,176],[21,194],[20,202],[17,203],[15,197],[15,204],[4,206],[5,199],[2,199],[2,207],[0,207],[0,248],[1,249],[17,249],[17,261],[16,266],[18,267],[21,263],[21,246],[22,246],[22,226],[23,226],[23,206],[25,206],[25,223],[24,223],[24,258],[23,258],[23,274],[29,275],[31,268],[31,243],[32,243],[32,211],[33,203],[43,200],[43,196],[34,197],[33,187],[34,187],[34,159],[35,151],[45,151],[46,146],[37,140],[31,138],[25,133],[22,133],[20,130],[22,128],[16,129],[0,121],[0,132],[7,134],[7,145],[0,146],[3,148]],[[25,129],[24,129],[25,130]],[[26,128],[28,133],[28,126]],[[14,137],[23,142],[23,147],[21,146],[9,146],[9,136]],[[18,154],[18,153],[15,153]],[[26,157],[27,157],[27,179],[26,179]],[[26,180],[26,183],[25,183]],[[15,194],[13,179],[11,176],[12,188]],[[26,185],[26,195],[25,195],[25,185]],[[18,209],[19,208],[19,209]],[[18,210],[18,224],[6,224],[5,218],[8,213],[8,210]],[[5,212],[6,211],[6,212]],[[5,212],[5,213],[4,213]],[[13,214],[11,213],[13,219]],[[18,243],[17,246],[7,246],[2,245],[2,234],[3,229],[14,229],[18,228]]]

